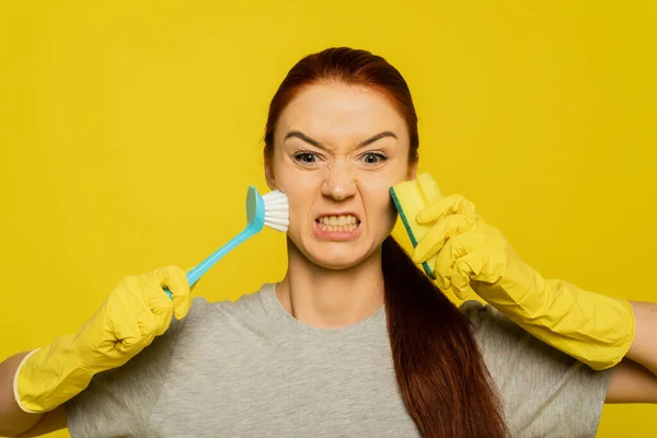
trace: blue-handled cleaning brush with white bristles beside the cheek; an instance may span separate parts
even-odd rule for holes
[[[255,187],[250,186],[246,192],[246,228],[187,273],[189,286],[194,286],[209,268],[215,266],[221,257],[235,246],[261,232],[264,226],[286,232],[288,224],[289,207],[287,196],[280,191],[269,192],[261,196]],[[169,289],[164,291],[169,298],[172,298]]]

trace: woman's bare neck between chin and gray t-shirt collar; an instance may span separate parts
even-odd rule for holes
[[[283,307],[318,328],[356,324],[383,306],[381,249],[347,269],[327,269],[309,261],[288,238],[288,270],[276,288]]]

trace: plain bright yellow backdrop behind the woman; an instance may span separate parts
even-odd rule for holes
[[[246,186],[266,189],[269,99],[335,45],[402,71],[422,168],[527,262],[657,301],[654,4],[2,2],[0,357],[76,331],[123,276],[191,266],[237,233]],[[254,291],[284,255],[265,230],[197,293]],[[599,436],[657,436],[656,413],[606,406]]]

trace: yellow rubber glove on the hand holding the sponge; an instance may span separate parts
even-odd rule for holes
[[[464,300],[474,290],[537,338],[596,370],[613,367],[632,346],[629,301],[544,279],[462,196],[430,201],[415,219],[431,229],[413,261],[437,255],[434,270],[443,291],[451,289]]]

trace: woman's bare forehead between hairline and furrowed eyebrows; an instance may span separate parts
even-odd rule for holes
[[[358,141],[381,131],[407,138],[404,118],[383,93],[341,83],[313,84],[288,104],[277,124],[276,137],[300,130],[325,141]]]

